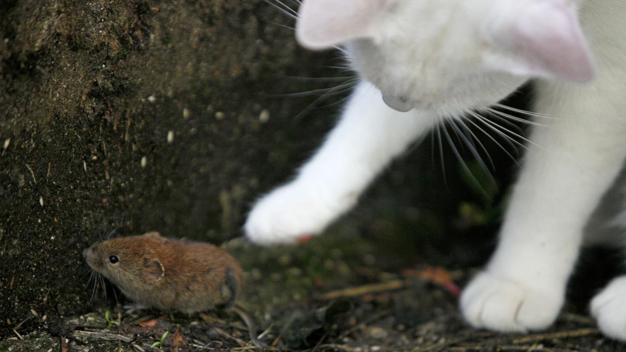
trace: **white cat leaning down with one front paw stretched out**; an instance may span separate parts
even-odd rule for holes
[[[623,0],[304,0],[299,42],[344,46],[364,83],[297,177],[255,205],[247,236],[275,244],[321,232],[436,123],[536,78],[535,110],[554,118],[531,133],[500,243],[461,310],[477,328],[550,326],[583,227],[626,157],[625,18]],[[591,310],[603,333],[626,340],[626,276]]]

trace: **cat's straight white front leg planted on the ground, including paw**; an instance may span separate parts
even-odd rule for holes
[[[461,296],[473,326],[521,332],[557,318],[583,226],[626,156],[624,90],[609,75],[538,84],[536,110],[555,118],[534,128],[496,252]]]

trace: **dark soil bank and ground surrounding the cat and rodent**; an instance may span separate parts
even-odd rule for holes
[[[93,294],[81,251],[148,230],[232,252],[247,272],[239,303],[275,348],[624,348],[586,311],[615,271],[607,260],[581,265],[546,333],[463,323],[454,287],[493,249],[516,170],[487,138],[491,177],[426,140],[323,236],[270,249],[241,239],[250,204],[319,145],[347,96],[333,87],[351,78],[285,26],[261,0],[0,3],[0,351],[255,349],[231,312],[126,314],[113,287]]]

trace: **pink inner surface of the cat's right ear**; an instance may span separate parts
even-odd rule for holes
[[[585,82],[593,78],[590,50],[577,15],[561,1],[536,1],[525,6],[512,28],[515,54],[530,73]]]

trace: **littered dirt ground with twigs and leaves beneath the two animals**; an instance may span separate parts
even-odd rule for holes
[[[260,251],[243,239],[224,244],[246,270],[239,304],[254,314],[259,322],[257,333],[272,348],[362,352],[624,349],[623,343],[598,333],[577,296],[570,298],[548,331],[476,331],[464,324],[456,303],[457,287],[476,269],[446,270],[428,264],[400,269],[397,258],[382,254],[380,243],[359,237],[349,221],[331,232],[304,245]],[[598,259],[600,255],[606,253],[589,256]],[[588,273],[580,273],[575,285],[588,286],[586,277]],[[89,313],[54,318],[31,313],[29,319],[38,328],[0,341],[0,351],[259,350],[232,312],[126,314],[121,308],[123,298],[115,298],[109,289],[105,299],[104,291],[100,289],[96,309]]]

